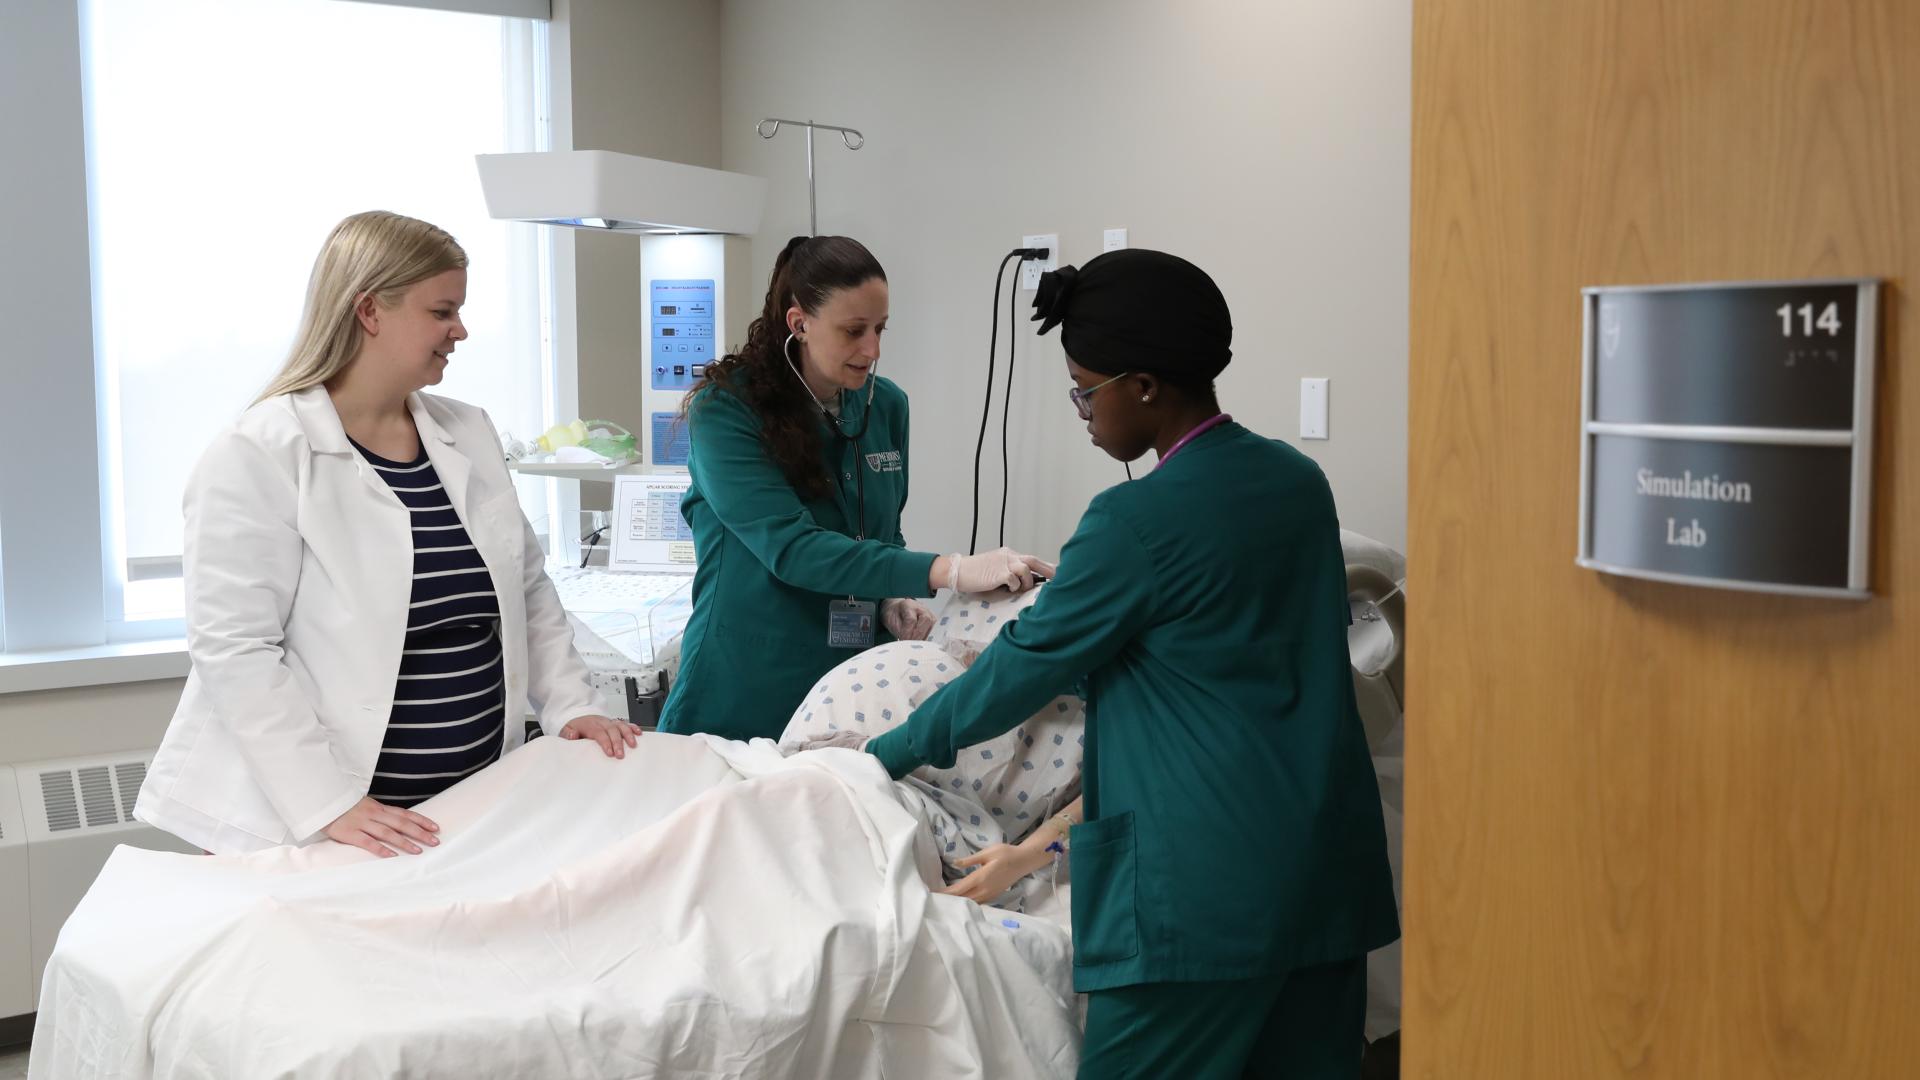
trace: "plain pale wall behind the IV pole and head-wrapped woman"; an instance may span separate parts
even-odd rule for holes
[[[762,273],[806,231],[806,181],[801,136],[755,121],[868,135],[858,154],[822,138],[820,231],[868,242],[893,284],[881,367],[914,398],[910,544],[966,544],[1000,256],[1060,233],[1085,263],[1127,227],[1227,292],[1236,419],[1292,442],[1300,379],[1332,379],[1332,440],[1298,446],[1344,525],[1405,546],[1411,23],[1411,0],[726,0],[722,163],[774,181]],[[1008,542],[1052,553],[1125,477],[1087,444],[1027,300]],[[1004,373],[1004,331],[1000,348]]]

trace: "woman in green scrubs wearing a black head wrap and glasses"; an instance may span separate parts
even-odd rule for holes
[[[1094,446],[1160,461],[1096,496],[1033,607],[866,749],[893,776],[950,767],[1085,678],[1081,1076],[1357,1076],[1365,957],[1400,926],[1332,492],[1219,411],[1233,327],[1192,263],[1104,254],[1035,307]]]

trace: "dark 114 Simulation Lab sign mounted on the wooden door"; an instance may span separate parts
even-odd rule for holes
[[[1868,596],[1880,282],[1584,300],[1580,565]]]

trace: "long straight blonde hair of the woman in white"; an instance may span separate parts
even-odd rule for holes
[[[451,269],[467,269],[467,252],[438,225],[384,209],[334,225],[313,259],[294,350],[253,404],[298,394],[346,371],[367,336],[353,313],[363,296],[394,307],[409,288]]]

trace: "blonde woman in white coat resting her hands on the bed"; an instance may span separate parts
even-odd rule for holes
[[[292,356],[186,486],[192,673],[134,817],[213,853],[438,844],[407,807],[541,726],[624,757],[492,421],[422,394],[467,338],[467,254],[357,213]]]

